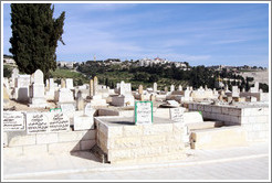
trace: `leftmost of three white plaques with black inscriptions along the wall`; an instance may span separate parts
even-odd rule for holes
[[[3,111],[3,131],[25,130],[24,115],[21,111]]]

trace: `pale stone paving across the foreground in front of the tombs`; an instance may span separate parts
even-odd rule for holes
[[[102,164],[81,152],[3,158],[4,180],[271,180],[266,142],[220,150],[188,150],[186,160],[146,164]]]

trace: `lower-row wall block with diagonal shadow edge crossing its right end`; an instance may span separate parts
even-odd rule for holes
[[[80,151],[81,146],[80,141],[76,142],[60,142],[60,143],[50,143],[48,144],[49,153],[69,153],[72,151]]]

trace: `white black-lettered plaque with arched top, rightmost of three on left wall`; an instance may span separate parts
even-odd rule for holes
[[[50,114],[49,122],[50,132],[70,131],[70,120],[63,112],[54,111]]]

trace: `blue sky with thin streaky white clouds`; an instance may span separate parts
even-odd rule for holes
[[[269,66],[268,3],[54,3],[65,11],[57,61],[157,56],[190,65]],[[10,4],[3,6],[9,53]]]

